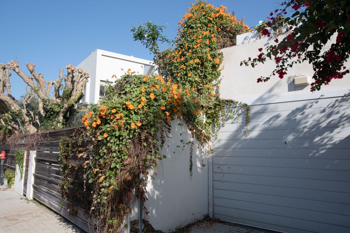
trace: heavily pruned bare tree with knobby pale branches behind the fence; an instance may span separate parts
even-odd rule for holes
[[[57,125],[59,127],[62,126],[64,119],[67,120],[68,123],[73,121],[77,104],[85,93],[85,83],[88,82],[89,74],[84,72],[81,68],[77,70],[71,64],[67,65],[67,76],[64,77],[64,90],[63,94],[60,95],[59,90],[63,86],[63,69],[59,70],[59,77],[57,79],[46,82],[42,74],[36,73],[34,64],[26,63],[26,65],[32,76],[26,76],[19,68],[17,61],[11,61],[6,65],[0,64],[0,124],[14,132],[18,132],[20,126],[17,119],[19,119],[23,130],[34,133],[42,126],[45,117],[52,114],[51,111],[56,111],[58,113],[55,119],[50,120],[58,122]],[[22,100],[23,109],[19,106],[18,101],[11,95],[9,79],[11,73],[9,70],[13,70],[27,84],[27,94]],[[54,85],[54,94],[52,98],[50,98],[49,94],[52,85]],[[5,94],[5,92],[7,92],[7,94]],[[37,115],[34,115],[30,103],[30,100],[34,98],[35,95],[38,96]],[[56,106],[56,108],[51,107],[51,105]]]

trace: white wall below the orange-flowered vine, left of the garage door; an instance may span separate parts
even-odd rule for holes
[[[177,120],[172,121],[170,137],[162,152],[167,158],[160,161],[156,171],[157,175],[154,175],[155,179],[149,177],[146,188],[148,200],[145,206],[149,215],[148,217],[144,215],[143,218],[148,219],[156,230],[164,232],[203,219],[204,214],[209,212],[208,150],[205,148],[202,153],[198,148],[198,141],[195,140],[193,176],[191,177],[190,146],[182,147],[180,140],[189,142],[193,138],[186,123],[183,126],[179,126],[179,123]],[[202,163],[205,164],[205,167],[202,167]],[[154,174],[154,170],[151,171],[151,174]],[[128,217],[127,223],[133,219],[139,219],[138,202],[135,203],[133,214]]]

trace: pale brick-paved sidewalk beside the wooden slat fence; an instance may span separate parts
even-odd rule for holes
[[[0,186],[0,210],[0,233],[84,232],[45,207],[28,202],[5,185]]]

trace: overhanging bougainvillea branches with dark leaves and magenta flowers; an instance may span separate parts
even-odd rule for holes
[[[274,75],[283,78],[288,68],[304,61],[311,63],[315,71],[311,91],[321,90],[322,85],[349,73],[349,68],[344,66],[350,54],[349,1],[290,0],[283,2],[281,8],[271,12],[270,16],[274,16],[268,17],[261,33],[269,37],[271,30],[284,27],[289,30],[286,37],[281,41],[275,38],[276,44],[267,46],[266,52],[260,48],[257,58],[241,62],[241,65],[254,67],[264,63],[266,58],[275,61],[276,69],[269,77],[258,78],[258,83],[266,82]],[[292,11],[292,17],[284,19],[289,11]]]

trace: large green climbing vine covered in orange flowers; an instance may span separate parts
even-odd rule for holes
[[[158,42],[165,41],[162,27],[151,22],[133,27],[134,39],[155,53],[159,74],[136,75],[128,69],[113,86],[106,86],[105,97],[84,115],[86,130],[62,139],[62,196],[70,199],[75,174],[83,169],[83,187],[91,190],[89,209],[97,231],[120,231],[135,200],[147,200],[146,185],[153,178],[149,170],[166,158],[163,148],[172,120],[185,121],[201,148],[211,141],[212,127],[224,124],[226,113],[245,111],[248,122],[246,104],[219,97],[218,77],[224,68],[218,49],[235,45],[236,35],[248,30],[225,10],[202,1],[192,4],[179,22],[175,47],[163,52],[158,50]],[[145,31],[150,33],[144,35]],[[84,140],[91,143],[77,149]],[[192,174],[193,141],[187,144]],[[72,162],[81,156],[84,161]]]

